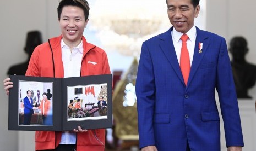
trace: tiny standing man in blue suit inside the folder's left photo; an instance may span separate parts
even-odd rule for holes
[[[23,125],[30,125],[32,114],[34,113],[33,109],[33,100],[31,98],[31,91],[26,91],[26,97],[23,99],[24,103],[24,122]]]

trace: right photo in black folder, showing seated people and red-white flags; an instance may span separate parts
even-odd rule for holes
[[[67,95],[67,121],[107,119],[107,83],[68,86]]]

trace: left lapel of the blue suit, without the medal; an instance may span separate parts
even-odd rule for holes
[[[184,84],[184,80],[183,80],[182,73],[181,73],[181,68],[179,67],[177,55],[176,55],[175,48],[174,48],[173,42],[172,42],[172,35],[171,35],[172,30],[173,30],[173,27],[171,27],[170,30],[168,30],[164,34],[161,34],[161,36],[159,37],[160,38],[159,45],[160,45],[161,50],[165,54],[168,62],[171,64],[173,70],[177,74],[178,78]]]

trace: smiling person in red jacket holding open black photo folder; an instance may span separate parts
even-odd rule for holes
[[[57,8],[61,36],[51,38],[35,48],[26,76],[79,77],[110,74],[104,50],[86,42],[83,36],[88,23],[86,0],[61,0]],[[4,80],[7,95],[12,82]],[[105,130],[36,131],[36,150],[104,150]]]

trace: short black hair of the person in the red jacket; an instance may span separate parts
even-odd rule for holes
[[[66,7],[66,6],[75,6],[83,9],[85,20],[88,19],[90,7],[89,7],[89,3],[86,0],[61,0],[57,8],[59,20],[61,19],[62,9],[63,7]]]

